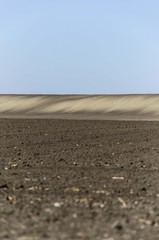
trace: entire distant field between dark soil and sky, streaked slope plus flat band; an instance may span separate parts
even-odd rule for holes
[[[159,95],[0,95],[0,117],[158,120]]]

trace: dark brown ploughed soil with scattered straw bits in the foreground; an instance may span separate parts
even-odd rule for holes
[[[1,119],[0,239],[159,239],[159,122]]]

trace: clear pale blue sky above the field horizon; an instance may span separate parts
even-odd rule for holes
[[[159,93],[159,1],[0,0],[0,93]]]

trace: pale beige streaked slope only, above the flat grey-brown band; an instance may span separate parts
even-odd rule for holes
[[[140,112],[159,115],[159,95],[0,95],[0,113]]]

